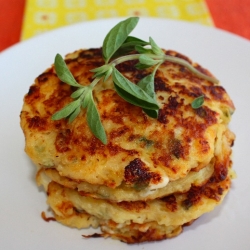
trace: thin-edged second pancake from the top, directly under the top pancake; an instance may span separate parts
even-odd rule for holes
[[[182,179],[169,182],[167,186],[155,190],[134,189],[121,185],[117,188],[110,188],[103,185],[92,185],[87,182],[77,182],[66,177],[61,177],[60,174],[52,168],[42,168],[37,175],[37,182],[41,175],[46,175],[43,178],[55,181],[65,187],[77,189],[85,196],[91,196],[97,199],[108,199],[112,201],[136,201],[136,200],[152,200],[158,197],[166,196],[175,192],[188,191],[192,184],[201,185],[205,183],[214,172],[214,162],[212,161],[207,167],[200,171],[190,171],[189,174]]]

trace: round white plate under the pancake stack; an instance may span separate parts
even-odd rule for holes
[[[227,32],[166,19],[142,18],[133,34],[152,36],[208,68],[236,106],[234,169],[238,178],[224,203],[174,239],[127,245],[111,239],[83,239],[86,230],[44,222],[46,196],[35,185],[35,167],[25,155],[19,127],[22,99],[56,53],[100,47],[120,19],[80,23],[20,43],[0,54],[0,243],[1,249],[250,249],[250,42]],[[91,230],[90,230],[91,231]],[[88,231],[88,232],[90,232]]]

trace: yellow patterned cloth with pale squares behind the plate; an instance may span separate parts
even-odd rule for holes
[[[77,22],[128,16],[213,25],[204,0],[26,0],[22,39]]]

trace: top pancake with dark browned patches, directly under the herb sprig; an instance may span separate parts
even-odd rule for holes
[[[166,54],[192,63],[176,52]],[[104,62],[101,49],[89,49],[68,54],[66,63],[76,80],[88,85],[93,76],[90,70]],[[151,69],[136,70],[135,63],[125,62],[117,68],[136,83]],[[51,120],[72,101],[74,90],[58,79],[54,66],[35,79],[21,112],[25,150],[39,168],[55,168],[61,176],[111,188],[125,184],[157,189],[168,180],[184,178],[191,170],[207,166],[214,156],[218,131],[234,110],[223,87],[165,62],[155,77],[158,119],[124,101],[115,92],[112,79],[98,83],[94,98],[108,138],[104,145],[88,128],[85,110],[72,123]],[[193,109],[191,103],[200,95],[205,96],[205,103]]]

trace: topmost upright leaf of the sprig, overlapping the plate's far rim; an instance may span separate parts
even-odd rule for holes
[[[124,21],[121,21],[109,31],[103,41],[102,46],[102,53],[105,63],[108,63],[113,54],[125,42],[128,35],[137,25],[138,21],[138,17],[130,17]]]

